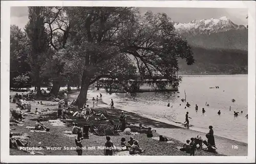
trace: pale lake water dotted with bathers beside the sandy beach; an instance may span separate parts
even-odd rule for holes
[[[183,127],[181,123],[184,123],[185,114],[189,112],[188,115],[192,118],[189,119],[189,124],[193,125],[190,129],[208,132],[208,126],[212,125],[215,135],[247,143],[247,83],[248,75],[183,75],[179,86],[180,93],[144,92],[137,93],[135,99],[129,93],[120,93],[111,97],[114,98],[115,106],[125,111],[173,122]],[[216,86],[219,89],[210,89]],[[181,98],[185,98],[184,90],[186,100],[191,105],[186,108],[186,102],[181,101]],[[232,102],[232,99],[236,101]],[[167,107],[168,102],[173,107]],[[199,106],[198,112],[195,111],[196,104]],[[203,107],[206,111],[204,114]],[[219,110],[220,116],[217,114]],[[234,111],[240,112],[238,117],[234,117]]]

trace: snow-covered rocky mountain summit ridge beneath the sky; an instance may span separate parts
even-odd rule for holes
[[[189,23],[175,22],[174,27],[179,33],[190,35],[220,33],[229,30],[246,30],[244,25],[237,25],[226,16],[219,19],[193,20]]]

